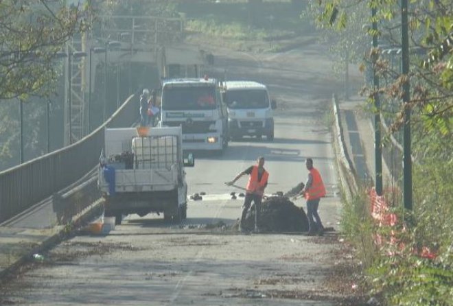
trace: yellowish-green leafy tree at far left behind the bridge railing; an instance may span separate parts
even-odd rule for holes
[[[39,139],[46,134],[47,99],[40,97],[56,102],[62,91],[62,62],[57,58],[67,56],[65,44],[73,36],[89,29],[91,14],[88,7],[63,2],[0,1],[0,169],[19,161],[19,102],[24,151],[28,158],[46,152],[47,143]]]

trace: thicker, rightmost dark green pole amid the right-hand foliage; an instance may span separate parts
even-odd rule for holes
[[[412,210],[412,159],[411,159],[411,137],[410,137],[410,83],[409,83],[409,36],[408,36],[408,0],[401,0],[401,21],[402,21],[402,76],[403,82],[403,200],[404,208]]]

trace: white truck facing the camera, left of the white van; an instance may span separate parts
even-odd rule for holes
[[[213,78],[164,80],[160,126],[183,128],[183,149],[222,154],[228,146],[227,106]]]

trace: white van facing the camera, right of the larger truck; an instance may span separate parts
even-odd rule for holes
[[[274,140],[272,110],[277,107],[266,85],[253,81],[224,82],[223,100],[227,103],[229,137],[266,136]]]

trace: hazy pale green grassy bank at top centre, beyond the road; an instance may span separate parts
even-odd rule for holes
[[[250,51],[248,48],[257,43],[254,51],[279,51],[281,45],[276,40],[308,32],[294,6],[301,7],[285,1],[181,1],[178,10],[185,12],[188,34],[207,35],[212,44]]]

